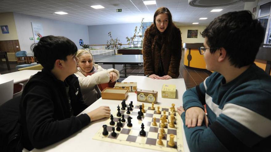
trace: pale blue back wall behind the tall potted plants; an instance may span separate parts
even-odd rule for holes
[[[131,37],[134,34],[135,27],[139,31],[141,23],[129,24],[110,24],[110,25],[91,25],[88,26],[89,44],[106,44],[110,40],[108,33],[111,32],[113,39],[117,38],[122,44],[127,44],[126,37]],[[124,45],[123,47],[126,47]]]

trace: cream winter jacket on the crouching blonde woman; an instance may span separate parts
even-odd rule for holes
[[[117,79],[119,79],[118,70],[113,68],[106,70],[98,64],[93,64],[93,66],[96,68],[97,72],[91,76],[84,76],[83,73],[81,73],[80,68],[78,68],[78,72],[75,73],[79,80],[83,99],[88,106],[101,97],[101,91],[97,84],[108,83],[110,81],[110,72],[115,72],[117,74]]]

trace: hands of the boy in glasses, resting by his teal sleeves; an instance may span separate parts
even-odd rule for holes
[[[206,127],[208,127],[208,118],[205,115],[205,112],[200,107],[190,107],[186,111],[184,108],[180,106],[177,108],[177,112],[181,115],[183,112],[185,113],[185,126],[188,128],[201,126],[202,122],[204,121]]]

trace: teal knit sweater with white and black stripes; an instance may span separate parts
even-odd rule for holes
[[[187,128],[190,151],[271,151],[271,77],[252,64],[225,84],[214,72],[200,84],[209,126]],[[201,107],[196,87],[183,95],[183,107]],[[181,118],[185,123],[185,112]]]

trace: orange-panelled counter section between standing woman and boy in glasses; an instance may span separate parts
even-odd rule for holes
[[[203,43],[184,43],[184,65],[191,68],[206,69],[203,55],[200,55],[199,47]]]

